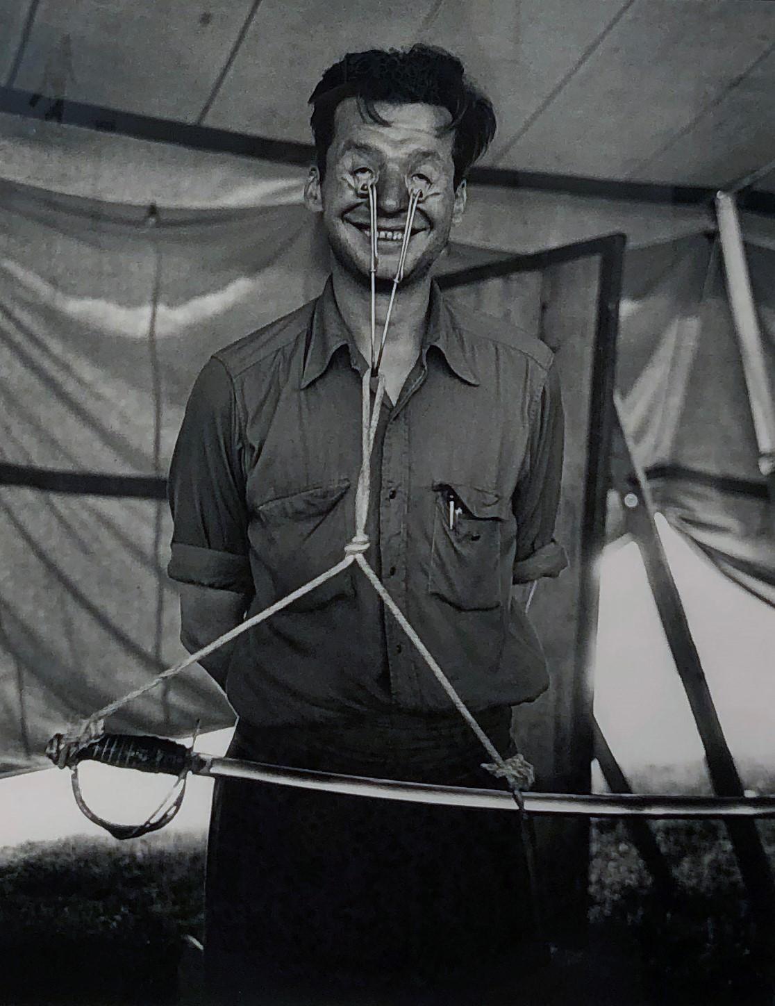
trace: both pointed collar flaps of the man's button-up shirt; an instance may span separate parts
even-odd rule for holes
[[[348,347],[350,362],[356,370],[362,372],[365,361],[342,318],[334,296],[334,284],[329,277],[323,293],[316,301],[310,322],[310,338],[300,385],[302,389],[309,387],[325,373],[334,353],[342,346]],[[431,346],[441,352],[449,368],[460,380],[466,384],[479,383],[464,337],[435,281],[430,286],[428,325],[421,348],[423,363]]]

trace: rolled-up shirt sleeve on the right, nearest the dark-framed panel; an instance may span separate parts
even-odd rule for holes
[[[538,392],[530,441],[517,491],[517,549],[512,579],[528,583],[557,576],[568,564],[554,537],[563,467],[564,421],[560,380],[553,362]]]

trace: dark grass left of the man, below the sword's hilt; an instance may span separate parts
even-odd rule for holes
[[[0,850],[3,1006],[174,1003],[202,936],[201,838],[67,839]]]

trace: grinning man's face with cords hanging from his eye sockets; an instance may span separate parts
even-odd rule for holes
[[[442,133],[449,122],[446,109],[434,105],[375,103],[381,126],[361,115],[356,99],[336,111],[334,140],[319,183],[313,172],[307,202],[322,209],[331,249],[339,264],[363,283],[369,282],[371,244],[369,201],[357,185],[376,176],[379,285],[396,274],[409,205],[408,186],[427,193],[417,205],[404,268],[404,283],[426,276],[462,215],[465,186],[455,192],[453,133]]]

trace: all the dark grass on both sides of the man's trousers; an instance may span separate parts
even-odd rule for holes
[[[769,1003],[723,829],[661,822],[654,831],[672,878],[666,897],[623,825],[595,824],[589,950],[566,968],[564,986],[539,984],[540,1002]],[[775,831],[763,835],[772,854]],[[0,1003],[172,1006],[181,937],[202,937],[203,872],[199,836],[0,850]],[[526,993],[535,1006],[539,998]]]

